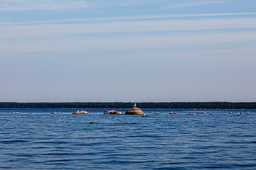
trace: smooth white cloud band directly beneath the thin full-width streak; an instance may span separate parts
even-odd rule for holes
[[[174,30],[220,30],[234,28],[256,28],[256,18],[11,25],[0,27],[0,37],[33,37],[38,35],[73,33],[147,33]]]

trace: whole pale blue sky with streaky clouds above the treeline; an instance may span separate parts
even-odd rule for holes
[[[1,102],[256,102],[255,0],[0,0]]]

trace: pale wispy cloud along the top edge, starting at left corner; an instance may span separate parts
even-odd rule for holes
[[[114,6],[157,6],[157,8],[184,8],[206,4],[220,4],[224,0],[216,1],[193,1],[185,3],[174,3],[168,0],[0,0],[0,11],[35,11],[75,8],[107,8]]]

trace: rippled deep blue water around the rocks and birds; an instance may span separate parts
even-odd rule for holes
[[[12,111],[0,114],[0,169],[256,169],[255,110],[0,109]]]

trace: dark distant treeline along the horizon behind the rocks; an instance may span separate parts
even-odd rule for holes
[[[125,102],[58,102],[16,103],[0,102],[0,108],[132,108],[134,103]],[[138,108],[207,108],[207,109],[256,109],[256,102],[140,102]]]

